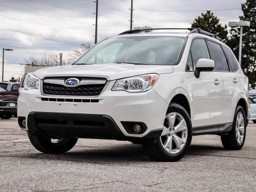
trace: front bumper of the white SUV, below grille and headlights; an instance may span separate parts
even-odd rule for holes
[[[72,125],[63,126],[61,122],[45,126],[49,134],[54,132],[54,130],[60,133],[61,130],[67,129],[67,132],[69,132],[69,134],[72,133],[76,138],[108,139],[112,137],[118,140],[124,137],[143,138],[153,130],[159,131],[159,129],[163,129],[164,117],[168,108],[168,103],[163,98],[153,89],[142,93],[111,91],[114,83],[115,81],[111,81],[106,90],[97,98],[51,96],[51,99],[97,99],[99,102],[75,102],[75,100],[73,100],[73,102],[61,102],[57,100],[49,101],[49,99],[45,101],[42,100],[42,98],[46,98],[46,96],[40,93],[40,89],[22,90],[18,100],[18,116],[23,116],[27,120],[26,129],[22,130],[32,130],[32,132],[35,132],[34,129],[39,127],[42,131],[45,131],[44,126],[41,124],[39,126],[30,124],[31,121],[36,119],[36,114],[39,113],[41,115],[43,114],[43,116],[51,114],[50,116],[54,118],[59,116],[59,120],[65,120],[68,116],[73,116],[76,120],[82,120],[84,122],[90,120],[90,118],[96,118],[108,125],[106,127],[115,127],[114,130],[118,128],[117,131],[114,132],[122,133],[121,136],[117,137],[115,134],[109,136],[109,131],[106,131],[108,130],[106,127],[98,129],[99,127],[97,126],[86,127],[86,125],[77,127],[75,131],[72,129]],[[47,98],[48,97],[49,96],[47,96]],[[64,118],[60,116],[60,114],[62,114]],[[30,118],[31,120],[29,120]],[[46,124],[49,119],[51,118],[45,119]],[[113,121],[111,126],[109,126],[109,119],[111,119],[111,122]],[[147,130],[142,134],[129,134],[125,131],[122,122],[142,122],[147,126]],[[70,133],[70,130],[73,130],[73,132]]]

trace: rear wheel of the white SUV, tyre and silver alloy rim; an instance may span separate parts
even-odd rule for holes
[[[244,109],[241,106],[236,106],[232,131],[228,135],[221,136],[221,142],[227,150],[240,150],[245,141],[246,136],[246,117]]]

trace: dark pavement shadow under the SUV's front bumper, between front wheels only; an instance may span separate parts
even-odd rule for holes
[[[28,153],[26,157],[36,159],[52,159],[63,161],[90,162],[90,163],[132,163],[150,162],[150,159],[141,145],[127,144],[111,148],[74,147],[65,154]]]

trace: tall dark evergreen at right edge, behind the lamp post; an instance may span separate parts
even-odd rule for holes
[[[256,1],[246,0],[242,4],[243,16],[240,20],[250,21],[250,27],[243,27],[242,45],[242,68],[249,78],[250,87],[256,88]],[[234,51],[237,59],[239,57],[239,35],[240,29],[230,30],[230,40],[227,44]]]

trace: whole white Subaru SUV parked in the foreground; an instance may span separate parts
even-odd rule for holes
[[[156,161],[178,161],[193,135],[218,134],[241,149],[248,78],[232,51],[200,29],[153,30],[106,38],[72,65],[26,75],[18,116],[32,145],[63,153],[77,138],[127,140]]]

